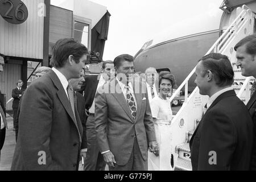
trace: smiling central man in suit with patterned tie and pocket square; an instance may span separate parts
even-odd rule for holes
[[[156,152],[157,145],[146,84],[131,77],[133,56],[116,57],[114,66],[117,77],[99,88],[95,98],[100,152],[110,171],[147,170],[148,147]]]

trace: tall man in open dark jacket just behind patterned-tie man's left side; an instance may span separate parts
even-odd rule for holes
[[[82,148],[82,155],[86,156],[84,163],[85,171],[104,171],[106,163],[100,154],[95,131],[95,102],[94,97],[100,86],[103,86],[113,77],[114,63],[113,61],[104,61],[102,64],[101,75],[87,76],[82,90],[84,90],[85,108],[88,111],[86,122],[87,146]],[[113,72],[113,73],[112,73]]]

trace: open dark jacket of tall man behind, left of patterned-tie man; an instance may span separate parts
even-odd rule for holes
[[[93,104],[99,79],[97,75],[89,75],[84,80],[81,90],[84,91],[85,109],[89,110]]]

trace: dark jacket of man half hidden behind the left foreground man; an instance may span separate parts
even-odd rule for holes
[[[85,100],[84,100],[84,97],[82,97],[82,94],[79,92],[76,92],[76,96],[77,96],[77,111],[79,113],[79,117],[82,123],[82,129],[83,129],[81,148],[87,148]]]

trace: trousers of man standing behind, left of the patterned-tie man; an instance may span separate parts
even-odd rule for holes
[[[84,162],[85,171],[105,171],[106,163],[98,148],[94,117],[86,121],[87,152]]]

